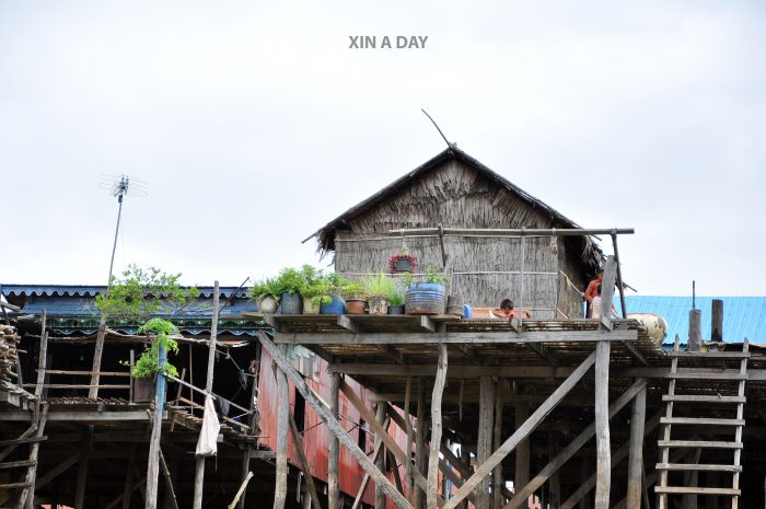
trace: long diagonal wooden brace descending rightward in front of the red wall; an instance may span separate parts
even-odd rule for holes
[[[375,468],[375,465],[370,459],[359,449],[351,437],[343,429],[338,420],[332,415],[329,409],[324,406],[323,402],[309,389],[303,381],[301,374],[295,371],[290,361],[277,349],[276,345],[268,338],[263,331],[258,332],[258,338],[262,346],[269,352],[271,358],[277,362],[282,372],[295,384],[295,389],[303,395],[306,403],[314,408],[314,412],[324,419],[327,427],[338,437],[340,442],[348,449],[349,453],[359,462],[362,468],[376,482],[384,484],[384,490],[388,498],[399,509],[411,509],[411,506],[404,496],[388,482],[381,472]]]

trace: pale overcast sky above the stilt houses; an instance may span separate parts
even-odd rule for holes
[[[766,294],[762,1],[0,1],[0,281],[240,285],[451,141],[643,294]],[[356,49],[349,36],[426,37]],[[606,245],[611,253],[611,246]]]

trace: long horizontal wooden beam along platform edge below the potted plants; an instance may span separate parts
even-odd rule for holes
[[[279,345],[422,345],[422,344],[513,344],[513,343],[592,343],[595,340],[632,342],[638,331],[615,328],[610,334],[596,331],[526,331],[514,332],[436,332],[436,333],[281,333],[276,335]]]

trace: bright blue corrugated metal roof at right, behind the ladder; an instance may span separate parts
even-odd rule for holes
[[[766,343],[766,297],[697,297],[696,308],[701,311],[703,339],[710,339],[711,302],[723,301],[723,340]],[[665,343],[673,343],[677,334],[682,343],[688,339],[690,297],[626,296],[628,313],[657,313],[668,321]],[[619,298],[615,298],[619,310]]]

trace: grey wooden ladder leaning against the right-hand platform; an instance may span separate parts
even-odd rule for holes
[[[670,383],[668,385],[668,394],[662,396],[662,401],[665,402],[665,416],[660,418],[660,425],[664,426],[664,430],[660,440],[658,441],[660,451],[660,463],[657,464],[657,471],[660,473],[659,485],[654,488],[659,497],[659,509],[668,509],[668,495],[687,495],[687,496],[707,496],[719,497],[719,496],[731,496],[731,507],[732,509],[738,509],[740,499],[740,473],[742,472],[742,466],[740,464],[742,454],[742,428],[745,425],[744,420],[744,404],[745,404],[745,381],[747,380],[747,359],[750,358],[747,339],[745,339],[742,351],[680,351],[678,348],[680,339],[675,336],[675,343],[673,346],[673,351],[669,352],[671,360],[671,374]],[[740,360],[739,372],[721,372],[718,369],[680,371],[678,360],[687,359],[721,359],[721,360]],[[677,380],[709,380],[719,382],[721,384],[733,383],[736,384],[736,395],[720,395],[720,394],[676,394],[676,381]],[[732,386],[731,389],[734,389]],[[701,404],[697,406],[698,413],[710,412],[720,408],[721,405],[734,404],[736,405],[736,417],[735,418],[720,418],[720,417],[674,417],[673,409],[674,405],[683,404]],[[677,409],[677,407],[676,407]],[[705,426],[715,433],[716,430],[723,430],[734,428],[734,440],[733,441],[713,441],[713,440],[673,440],[671,439],[671,427],[673,425],[697,425]],[[697,437],[694,437],[697,438]],[[671,460],[671,449],[681,448],[694,448],[693,454],[681,455],[678,453],[673,454],[673,459],[678,461],[677,463]],[[703,450],[732,450],[734,453],[733,464],[709,464],[700,463],[699,458]],[[682,463],[684,458],[692,455],[692,461],[688,463]],[[669,486],[668,485],[668,473],[671,471],[682,471],[688,476],[685,476],[683,484],[688,484],[688,486]],[[730,487],[698,487],[697,486],[697,474],[698,472],[717,472],[732,474],[732,483]],[[700,507],[710,507],[710,505],[700,505]],[[686,505],[684,505],[686,507]],[[694,505],[693,507],[696,507]]]

